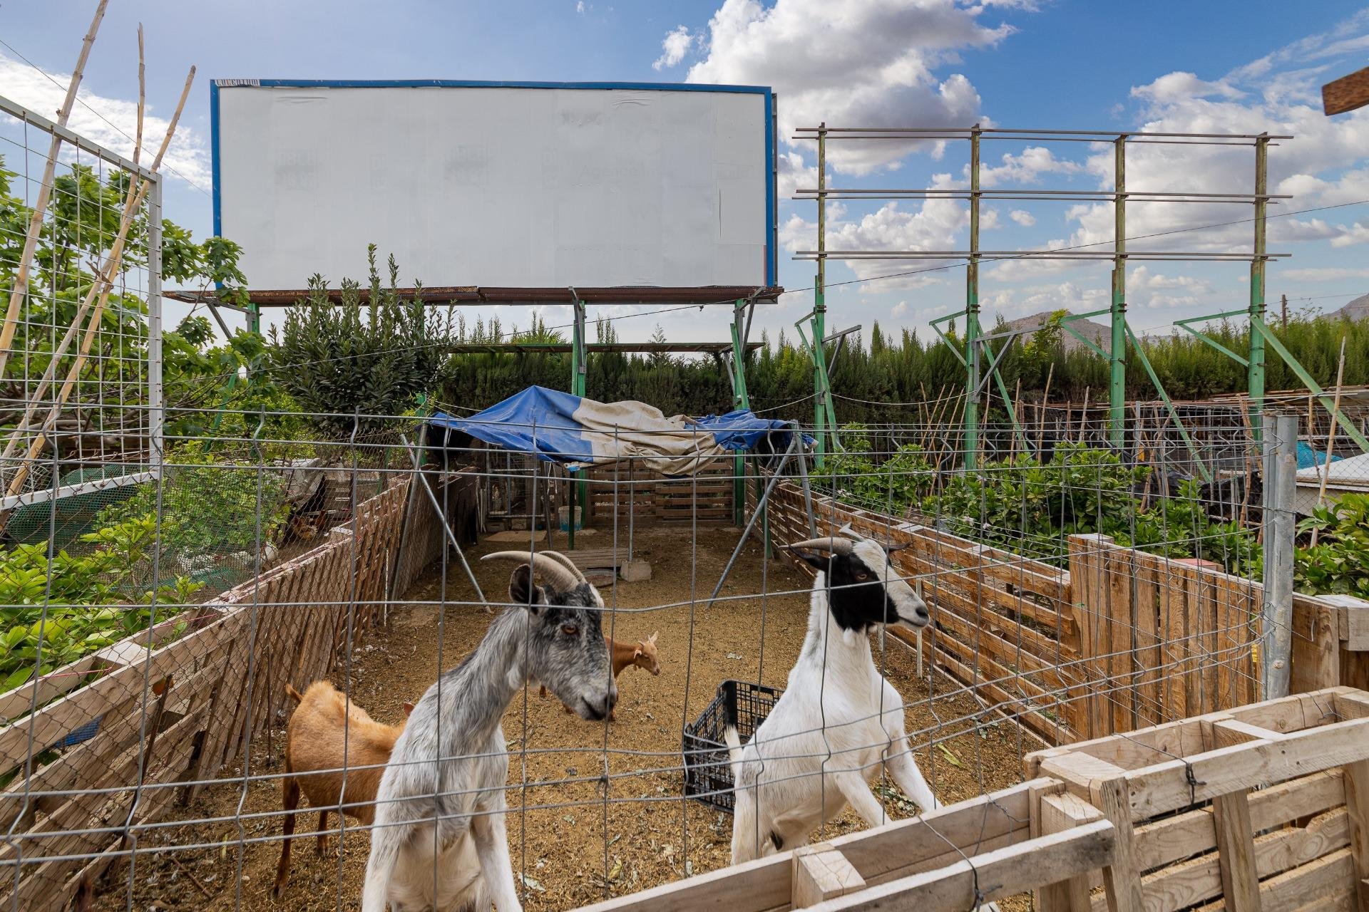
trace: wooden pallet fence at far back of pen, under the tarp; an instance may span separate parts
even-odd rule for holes
[[[623,535],[628,521],[642,529],[694,522],[704,528],[730,526],[735,521],[731,462],[691,479],[667,479],[645,469],[591,469],[586,525],[612,528],[616,513]]]

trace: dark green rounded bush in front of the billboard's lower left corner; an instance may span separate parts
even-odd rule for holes
[[[374,417],[409,412],[419,394],[431,391],[442,364],[442,321],[415,294],[398,293],[398,267],[389,261],[389,287],[381,284],[375,245],[367,249],[370,298],[360,286],[342,280],[341,304],[329,301],[322,276],[309,279],[309,297],[272,328],[272,371],[277,383],[312,413],[320,433],[345,436],[360,413],[361,429],[379,425]]]

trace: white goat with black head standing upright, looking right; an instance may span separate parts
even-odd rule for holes
[[[847,804],[869,826],[884,823],[869,789],[880,763],[921,811],[938,807],[908,745],[904,699],[875,667],[867,636],[888,623],[927,626],[927,604],[890,565],[894,548],[849,529],[789,547],[817,569],[808,636],[789,686],[745,747],[728,701],[732,864],[804,845]]]

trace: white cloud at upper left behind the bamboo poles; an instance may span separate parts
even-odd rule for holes
[[[11,60],[0,53],[0,86],[4,86],[5,97],[52,119],[56,116],[57,108],[62,107],[63,97],[66,97],[71,74],[52,72],[49,75],[52,79],[29,64],[21,60]],[[78,101],[73,107],[71,116],[67,119],[67,127],[92,142],[97,142],[112,152],[131,159],[131,137],[137,135],[138,124],[137,100],[126,101],[123,98],[100,96],[89,92],[85,88],[86,85],[89,85],[89,79],[82,82],[78,96],[85,104]],[[170,107],[175,98],[167,98],[166,101]],[[156,155],[156,149],[162,144],[162,137],[166,135],[167,130],[168,120],[155,116],[152,113],[155,109],[156,107],[149,100],[142,120],[141,161],[144,164],[152,161],[152,156]],[[94,113],[94,111],[99,113]],[[104,115],[104,118],[100,115]],[[47,144],[44,144],[44,148],[47,148]],[[66,149],[70,150],[70,146]],[[171,139],[171,146],[163,159],[162,170],[172,179],[181,176],[182,179],[193,180],[201,187],[208,189],[209,186],[209,152],[205,148],[203,137],[186,126],[185,119],[177,126],[175,137]]]

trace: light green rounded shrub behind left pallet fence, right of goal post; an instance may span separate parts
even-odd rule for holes
[[[197,446],[171,453],[167,465],[171,468],[160,485],[156,481],[138,485],[127,500],[104,507],[96,524],[151,522],[157,515],[160,487],[162,547],[164,559],[170,561],[237,551],[253,554],[259,543],[270,543],[285,522],[289,509],[283,502],[285,481],[278,472],[230,465]]]

